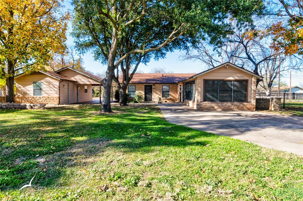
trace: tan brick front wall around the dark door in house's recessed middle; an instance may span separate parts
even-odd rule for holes
[[[144,86],[152,84],[129,84],[128,86],[136,86],[136,92],[142,92],[144,96]],[[169,98],[162,98],[162,86],[169,86]],[[128,92],[128,88],[127,88]],[[178,86],[175,84],[155,84],[152,85],[152,101],[158,102],[161,97],[162,102],[177,102]]]

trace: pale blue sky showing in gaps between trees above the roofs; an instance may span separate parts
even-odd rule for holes
[[[73,9],[72,5],[70,4],[70,0],[65,0],[63,4],[65,5],[65,10]],[[66,42],[67,45],[73,45],[74,39],[69,34],[71,29],[71,23],[69,23]],[[164,59],[159,59],[158,61],[151,59],[147,65],[140,64],[138,70],[141,70],[144,73],[149,73],[154,67],[164,67],[167,71],[173,71],[174,73],[199,73],[205,70],[205,64],[202,64],[199,61],[181,61],[179,57],[182,54],[183,52],[176,50],[175,52],[168,53]],[[84,55],[81,55],[81,57],[86,70],[94,73],[102,73],[107,68],[107,66],[102,65],[99,61],[95,61],[92,53],[85,53]],[[281,80],[289,84],[289,73],[286,73],[284,76],[285,77],[281,78]],[[303,82],[302,78],[302,73],[292,72],[291,85],[300,85],[300,82]]]

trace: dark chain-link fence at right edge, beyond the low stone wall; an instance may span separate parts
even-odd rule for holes
[[[283,93],[281,108],[283,109],[303,109],[303,93]]]

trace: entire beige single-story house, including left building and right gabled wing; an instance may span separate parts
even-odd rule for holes
[[[232,63],[201,73],[135,73],[130,99],[142,92],[145,101],[181,102],[202,110],[255,110],[256,83],[261,76]],[[70,104],[92,101],[92,86],[102,79],[66,67],[15,76],[15,102]]]

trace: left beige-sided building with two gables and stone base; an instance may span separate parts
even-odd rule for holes
[[[17,103],[71,104],[92,101],[92,86],[102,86],[102,78],[65,67],[15,76]]]

